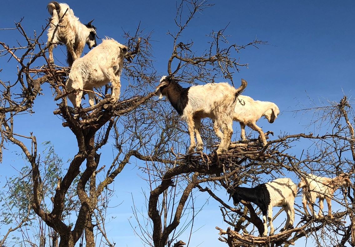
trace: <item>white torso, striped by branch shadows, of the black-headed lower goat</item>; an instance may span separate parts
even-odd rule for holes
[[[270,193],[273,206],[282,207],[284,205],[293,205],[297,194],[297,186],[289,178],[275,179],[267,182],[266,186]]]

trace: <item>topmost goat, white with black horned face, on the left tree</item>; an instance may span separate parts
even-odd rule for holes
[[[69,66],[72,66],[73,61],[80,57],[83,52],[85,43],[89,46],[89,49],[97,45],[95,38],[96,28],[91,24],[93,20],[88,24],[82,24],[69,5],[60,4],[56,1],[51,1],[47,9],[51,15],[48,43],[52,38],[53,43],[64,43],[67,49],[67,62]],[[56,29],[57,26],[58,28]],[[53,46],[55,45],[50,45],[48,48],[49,62],[51,64],[54,63]]]

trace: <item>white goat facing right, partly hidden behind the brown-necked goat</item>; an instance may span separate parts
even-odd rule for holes
[[[253,100],[249,96],[239,95],[234,108],[233,120],[238,121],[240,124],[240,137],[243,141],[246,140],[245,125],[247,125],[259,133],[260,140],[262,141],[263,146],[265,146],[267,142],[264,132],[259,126],[256,125],[256,121],[264,116],[269,123],[272,124],[279,113],[280,110],[275,103]],[[213,129],[217,136],[221,137],[222,133],[220,132],[218,126],[213,125]]]

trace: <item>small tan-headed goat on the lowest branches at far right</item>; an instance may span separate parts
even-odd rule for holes
[[[308,183],[308,186],[306,181]],[[333,197],[334,192],[338,190],[340,186],[350,183],[349,175],[342,172],[333,179],[330,179],[328,177],[320,177],[313,174],[307,174],[306,181],[303,177],[301,177],[301,181],[298,184],[299,188],[303,188],[302,205],[306,215],[310,215],[307,210],[306,198],[307,192],[309,192],[310,201],[308,202],[308,207],[310,208],[312,215],[314,215],[316,218],[318,218],[318,216],[323,216],[323,201],[324,198],[326,198],[328,204],[328,215],[330,218],[333,218],[331,199]],[[319,198],[318,215],[314,214],[312,206],[312,204],[316,202],[316,198]]]

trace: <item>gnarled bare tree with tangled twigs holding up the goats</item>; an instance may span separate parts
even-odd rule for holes
[[[8,181],[9,187],[20,186],[17,187],[20,191],[9,190],[8,193],[22,195],[18,199],[23,203],[2,205],[2,210],[7,212],[3,222],[16,226],[8,232],[21,230],[28,222],[44,223],[41,229],[48,227],[50,230],[48,235],[39,231],[39,246],[45,246],[45,243],[53,247],[75,246],[77,242],[83,244],[83,238],[86,246],[100,245],[101,242],[95,242],[97,234],[104,239],[103,244],[114,246],[104,227],[105,210],[112,193],[110,186],[126,164],[135,162],[140,166],[141,176],[147,180],[150,191],[143,195],[147,200],[146,212],[138,212],[140,209],[134,206],[133,214],[138,222],[131,221],[131,224],[138,224],[135,231],[146,245],[181,246],[184,242],[189,245],[189,240],[184,239],[184,242],[174,243],[182,232],[191,231],[194,216],[203,210],[195,207],[200,203],[198,195],[206,194],[220,203],[220,217],[230,225],[226,230],[218,228],[219,234],[223,235],[220,240],[229,246],[289,246],[305,236],[311,236],[318,246],[354,246],[353,186],[349,186],[346,194],[344,191],[343,195],[340,193],[334,198],[344,209],[335,212],[334,219],[308,218],[296,204],[294,228],[276,231],[270,237],[258,237],[262,235],[263,224],[255,205],[242,202],[233,206],[226,199],[234,186],[245,184],[243,186],[250,187],[284,176],[299,178],[307,173],[318,173],[332,177],[344,171],[349,172],[353,180],[354,111],[346,97],[339,103],[330,102],[308,109],[319,114],[314,118],[317,123],[327,124],[319,125],[319,133],[275,136],[265,147],[257,139],[251,139],[249,143],[234,142],[222,155],[214,151],[219,140],[209,120],[203,121],[201,130],[206,145],[204,152],[186,155],[189,139],[185,123],[179,120],[168,101],[152,100],[160,76],[168,74],[179,78],[186,87],[195,83],[213,83],[220,77],[237,86],[235,83],[240,78],[235,78],[235,72],[247,66],[246,62],[239,61],[241,50],[266,44],[253,40],[237,45],[237,40],[227,40],[227,27],[211,31],[207,44],[195,44],[194,37],[183,37],[186,28],[193,25],[193,18],[208,7],[212,5],[198,0],[182,0],[177,5],[176,26],[168,31],[172,50],[166,57],[166,71],[155,71],[151,34],[143,32],[140,26],[133,32],[126,31],[125,42],[120,42],[125,43],[130,52],[125,57],[121,76],[129,82],[128,86],[121,89],[118,102],[111,101],[110,86],[96,89],[97,104],[83,105],[80,109],[67,103],[66,96],[70,92],[66,90],[65,82],[70,68],[48,62],[47,50],[51,44],[43,42],[48,25],[40,32],[29,34],[19,21],[15,28],[22,39],[16,45],[5,44],[0,38],[0,59],[18,67],[10,81],[0,79],[0,159],[6,155],[7,143],[11,143],[21,150],[28,164],[18,177]],[[39,155],[36,133],[15,131],[19,115],[35,114],[33,104],[43,88],[53,90],[53,97],[46,97],[58,105],[50,114],[58,116],[62,127],[75,136],[77,151],[66,166],[49,143],[50,148],[44,155]],[[111,148],[106,145],[108,143],[115,157],[109,166],[105,166],[100,164],[100,152]],[[308,150],[301,153],[289,151],[299,143],[307,143]],[[22,183],[26,186],[21,186]],[[6,201],[9,197],[2,198]],[[12,212],[21,210],[21,216],[11,216],[10,208]],[[144,215],[144,223],[140,214]],[[282,214],[274,215],[277,219],[282,218]],[[2,245],[6,244],[7,236],[4,236]]]

